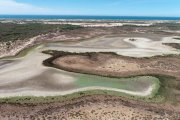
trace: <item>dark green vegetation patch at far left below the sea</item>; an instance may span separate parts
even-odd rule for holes
[[[76,25],[48,25],[40,23],[0,23],[0,42],[24,40],[40,34],[81,28]]]

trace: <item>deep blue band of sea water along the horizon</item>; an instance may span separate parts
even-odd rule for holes
[[[180,17],[78,16],[78,15],[0,15],[0,19],[66,19],[66,20],[180,20]]]

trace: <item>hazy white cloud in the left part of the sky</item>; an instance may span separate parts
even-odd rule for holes
[[[56,11],[15,0],[0,0],[0,14],[56,14]]]

